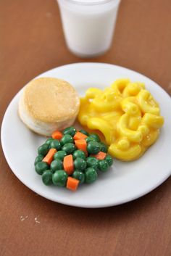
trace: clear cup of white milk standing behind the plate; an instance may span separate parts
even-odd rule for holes
[[[68,48],[79,57],[103,54],[112,44],[120,0],[57,0]]]

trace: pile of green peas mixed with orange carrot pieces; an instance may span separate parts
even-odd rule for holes
[[[96,133],[76,131],[71,126],[55,131],[38,147],[34,165],[45,185],[66,186],[75,191],[82,183],[96,181],[98,172],[106,172],[112,163],[107,145]]]

